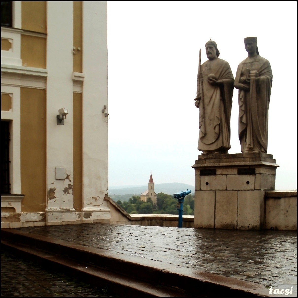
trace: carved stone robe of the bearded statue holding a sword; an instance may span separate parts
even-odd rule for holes
[[[210,74],[214,74],[217,80],[223,80],[223,85],[211,85],[207,79]],[[233,83],[231,68],[225,60],[207,60],[201,65],[197,92],[197,96],[201,96],[198,150],[219,150],[223,153],[231,148]]]

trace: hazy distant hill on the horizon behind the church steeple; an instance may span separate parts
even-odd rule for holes
[[[140,195],[145,190],[148,189],[148,185],[141,185],[141,186],[135,186],[135,187],[109,187],[108,189],[108,195],[111,195],[111,198],[113,198],[113,195],[128,195],[128,194],[134,194],[134,195]],[[161,183],[161,184],[154,184],[154,191],[156,193],[167,193],[168,195],[173,195],[174,193],[177,193],[181,190],[191,190],[193,193],[195,192],[195,187],[193,185],[184,184],[184,183]]]

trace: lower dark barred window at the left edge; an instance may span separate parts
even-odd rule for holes
[[[1,121],[2,189],[1,193],[10,193],[9,183],[9,122]]]

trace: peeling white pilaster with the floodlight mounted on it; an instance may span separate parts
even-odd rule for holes
[[[73,208],[73,4],[47,2],[47,221],[75,221]],[[64,125],[57,125],[58,109],[67,108]],[[56,179],[55,168],[65,177]],[[64,178],[64,179],[63,179]]]

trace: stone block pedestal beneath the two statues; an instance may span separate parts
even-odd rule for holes
[[[275,189],[271,154],[200,155],[195,161],[195,228],[260,230],[265,191]]]

